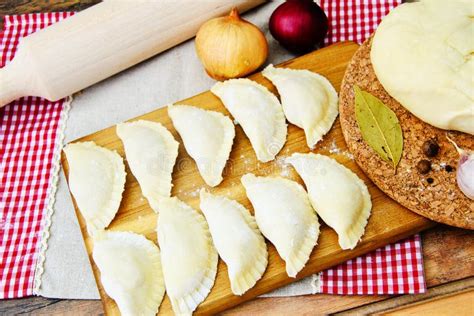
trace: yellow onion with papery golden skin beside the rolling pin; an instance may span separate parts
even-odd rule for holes
[[[209,76],[225,80],[258,69],[267,59],[268,44],[262,31],[233,9],[228,16],[201,26],[196,51]]]

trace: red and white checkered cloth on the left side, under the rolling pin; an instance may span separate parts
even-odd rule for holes
[[[5,16],[0,67],[20,38],[70,15]],[[64,105],[27,97],[0,109],[0,298],[33,294]]]

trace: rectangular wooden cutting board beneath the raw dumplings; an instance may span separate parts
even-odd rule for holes
[[[358,45],[351,42],[340,43],[287,61],[280,66],[309,69],[320,73],[332,82],[336,90],[339,90],[346,66],[357,48]],[[250,79],[267,86],[272,92],[276,93],[275,88],[268,80],[263,78],[260,73],[250,76]],[[209,91],[177,103],[195,105],[205,109],[220,111],[229,115],[219,99]],[[179,156],[173,172],[174,187],[172,195],[177,196],[179,199],[185,201],[194,208],[199,209],[198,192],[201,187],[205,187],[205,184],[197,171],[194,161],[185,152],[181,139],[173,128],[171,120],[168,117],[166,108],[158,109],[134,118],[133,120],[135,119],[160,122],[173,133],[178,141],[180,141]],[[114,126],[85,136],[76,141],[94,141],[100,146],[117,150],[122,157],[125,157],[122,143],[115,133]],[[269,163],[259,163],[255,158],[254,151],[248,138],[245,136],[240,126],[236,126],[234,146],[225,170],[224,181],[217,188],[214,188],[211,191],[213,193],[223,194],[233,198],[253,211],[250,202],[246,198],[244,188],[240,184],[240,177],[247,172],[254,172],[257,175],[281,175],[302,183],[301,179],[299,179],[291,167],[281,163],[281,157],[291,155],[294,152],[308,151],[309,149],[306,146],[303,131],[289,124],[288,139],[285,147],[279,153],[277,160]],[[318,245],[314,248],[306,267],[298,274],[297,278],[303,278],[315,272],[319,272],[325,268],[329,268],[350,258],[384,246],[387,243],[408,237],[434,225],[433,222],[410,212],[395,201],[391,200],[372,182],[370,182],[347,152],[339,120],[335,122],[331,132],[325,137],[324,141],[318,144],[316,149],[313,151],[328,154],[356,172],[369,187],[372,196],[373,209],[366,228],[366,233],[362,241],[352,251],[342,251],[337,243],[337,236],[334,231],[323,224]],[[67,177],[68,164],[64,154],[62,155],[62,165]],[[143,198],[138,183],[130,172],[127,164],[126,172],[127,181],[125,184],[123,200],[118,214],[110,224],[109,229],[141,233],[150,240],[156,242],[155,229],[157,215],[152,211],[148,206],[147,201]],[[92,240],[87,234],[84,219],[76,204],[75,209],[99,287],[102,302],[104,304],[104,310],[109,315],[118,315],[119,312],[117,306],[104,292],[100,282],[100,272],[94,264],[91,256],[93,248]],[[268,251],[269,264],[265,274],[262,279],[257,282],[256,286],[243,296],[235,296],[232,294],[227,276],[227,268],[222,261],[219,261],[215,285],[207,299],[196,310],[196,313],[217,313],[293,282],[295,279],[291,279],[286,275],[284,262],[278,257],[275,248],[268,244]],[[170,301],[166,297],[160,307],[160,314],[171,313],[172,309]]]

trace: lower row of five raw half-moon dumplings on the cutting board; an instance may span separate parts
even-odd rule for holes
[[[339,234],[342,248],[355,247],[371,210],[363,182],[326,156],[295,154],[289,160],[310,194],[289,179],[246,174],[241,182],[255,217],[237,201],[205,189],[200,192],[202,214],[176,197],[161,199],[157,204],[161,255],[144,236],[96,232],[93,258],[104,289],[121,313],[154,315],[166,288],[174,312],[191,314],[214,284],[218,255],[227,265],[232,292],[244,294],[262,277],[268,264],[263,236],[275,245],[288,276],[296,277],[319,236],[313,206]],[[305,164],[316,167],[319,176],[303,171]],[[334,184],[324,189],[329,179]],[[338,196],[340,191],[348,193],[348,186],[353,186],[353,194]]]

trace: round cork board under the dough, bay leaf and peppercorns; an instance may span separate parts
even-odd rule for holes
[[[474,229],[474,201],[467,198],[456,184],[459,155],[446,135],[461,148],[471,150],[474,150],[474,136],[424,123],[390,97],[375,76],[370,62],[370,47],[371,38],[352,57],[339,94],[341,126],[349,150],[367,176],[398,203],[434,221]],[[362,139],[354,112],[355,84],[382,100],[400,121],[403,154],[396,172]],[[439,153],[432,158],[422,150],[423,143],[430,139],[436,140],[440,146]],[[432,164],[431,171],[426,174],[417,169],[421,159]]]

